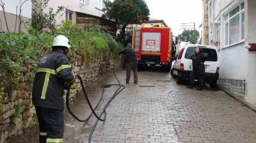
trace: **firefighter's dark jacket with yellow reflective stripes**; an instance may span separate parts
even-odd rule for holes
[[[33,105],[43,108],[64,109],[64,86],[75,81],[69,58],[58,50],[45,55],[38,63],[33,81]]]

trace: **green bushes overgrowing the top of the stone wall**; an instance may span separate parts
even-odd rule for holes
[[[18,88],[18,75],[29,74],[33,79],[34,71],[21,73],[21,68],[50,52],[56,35],[67,36],[72,49],[69,55],[72,52],[81,53],[84,62],[99,52],[117,55],[123,48],[122,44],[105,33],[104,27],[87,25],[81,29],[71,21],[62,21],[62,24],[61,29],[55,28],[54,35],[47,32],[36,33],[33,28],[29,29],[29,33],[0,33],[0,103],[3,101],[1,91],[10,95],[12,90]]]

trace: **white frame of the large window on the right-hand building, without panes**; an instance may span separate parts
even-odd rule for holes
[[[230,16],[230,12],[235,10],[235,8],[231,9],[230,11],[228,11],[227,13],[225,13],[223,15],[224,25],[225,25],[225,26],[223,26],[224,27],[223,31],[225,33],[225,38],[224,38],[225,41],[223,43],[224,43],[225,47],[228,47],[230,45],[235,45],[235,44],[240,43],[240,42],[245,40],[245,38],[242,38],[242,14],[245,13],[245,6],[242,8],[242,4],[245,4],[245,1],[242,1],[240,4],[235,6],[235,8],[237,8],[239,6],[239,11],[237,13],[235,13],[233,16],[229,17]],[[232,20],[233,18],[235,18],[238,15],[239,15],[239,40],[238,40],[238,42],[234,42],[234,43],[230,44],[230,20]],[[225,19],[226,16],[228,16],[228,19]],[[228,24],[228,35],[226,33],[226,31],[227,31],[226,24]]]

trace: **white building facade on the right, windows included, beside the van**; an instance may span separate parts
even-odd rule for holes
[[[256,1],[203,0],[203,19],[202,44],[218,48],[219,86],[256,105]]]

